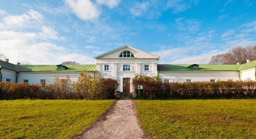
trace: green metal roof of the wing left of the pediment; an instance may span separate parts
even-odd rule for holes
[[[96,71],[96,65],[63,65],[66,66],[66,70],[58,70],[57,65],[14,65],[12,63],[4,62],[0,60],[0,66],[2,68],[17,71],[17,72],[69,72],[69,71]]]

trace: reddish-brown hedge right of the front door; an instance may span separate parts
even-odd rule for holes
[[[256,98],[255,81],[162,82],[159,79],[153,79],[153,77],[135,74],[133,85],[137,96],[139,84],[143,85],[143,90],[140,90],[140,97],[144,99]]]

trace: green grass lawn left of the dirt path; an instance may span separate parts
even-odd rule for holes
[[[114,100],[0,100],[0,139],[63,139],[84,131]]]

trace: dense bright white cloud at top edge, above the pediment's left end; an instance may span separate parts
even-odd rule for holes
[[[72,12],[84,21],[92,21],[100,16],[97,6],[90,0],[65,0],[65,5],[72,8]]]

